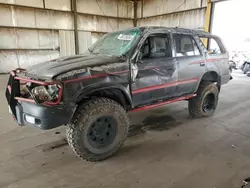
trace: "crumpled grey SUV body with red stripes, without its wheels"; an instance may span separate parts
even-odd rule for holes
[[[129,30],[125,31],[128,33]],[[35,117],[36,126],[50,129],[67,124],[77,106],[92,97],[108,97],[127,111],[137,111],[148,109],[145,106],[157,106],[157,103],[168,104],[192,98],[202,80],[216,82],[219,86],[230,80],[228,54],[216,36],[203,31],[162,27],[135,28],[132,34],[118,35],[117,40],[124,42],[124,45],[119,44],[124,51],[121,55],[112,54],[117,49],[111,54],[94,53],[99,49],[90,49],[82,55],[61,57],[27,70],[13,71],[6,97],[17,122],[20,125],[30,124],[25,119],[28,114]],[[190,46],[178,46],[176,35],[190,37],[193,45],[197,45],[196,52],[180,55],[178,48],[189,49]],[[200,36],[216,38],[223,53],[209,55]],[[133,38],[135,41],[130,42]],[[26,84],[29,97],[22,94],[21,81]],[[39,85],[45,86],[45,90],[39,88],[36,91]],[[60,97],[60,101],[41,102],[35,96],[37,92]],[[55,92],[59,94],[55,95]],[[33,113],[32,108],[38,110]],[[52,121],[47,121],[46,114],[49,118],[55,114],[57,117],[54,118],[60,119],[63,109],[68,112],[63,121],[50,125]]]

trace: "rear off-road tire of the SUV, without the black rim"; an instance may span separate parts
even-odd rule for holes
[[[203,103],[208,95],[214,96],[214,105],[208,112],[203,110]],[[189,114],[195,118],[212,116],[216,110],[219,99],[219,90],[216,84],[211,82],[201,82],[196,97],[188,102]]]

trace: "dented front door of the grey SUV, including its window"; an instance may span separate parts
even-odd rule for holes
[[[173,96],[178,84],[170,34],[151,33],[140,44],[142,58],[132,65],[131,88],[135,107]]]

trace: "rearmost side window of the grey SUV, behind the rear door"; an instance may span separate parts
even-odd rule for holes
[[[214,38],[200,37],[204,47],[207,49],[208,54],[222,54],[223,49]],[[208,45],[207,45],[208,44]]]

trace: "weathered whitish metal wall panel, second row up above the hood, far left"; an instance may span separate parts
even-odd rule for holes
[[[0,29],[0,49],[56,49],[58,31],[18,28]]]

